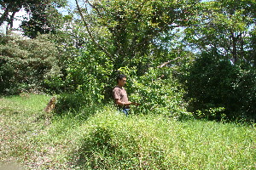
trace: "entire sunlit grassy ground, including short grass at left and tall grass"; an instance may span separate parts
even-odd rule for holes
[[[256,169],[254,125],[125,117],[110,105],[52,116],[49,99],[0,99],[0,169]]]

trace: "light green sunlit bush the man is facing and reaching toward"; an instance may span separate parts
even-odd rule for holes
[[[131,93],[130,100],[142,104],[133,108],[134,112],[177,119],[189,116],[183,101],[183,88],[172,77],[172,68],[151,68],[142,77],[131,74],[126,88]]]

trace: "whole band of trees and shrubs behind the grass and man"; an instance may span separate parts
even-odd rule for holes
[[[135,112],[214,120],[255,119],[254,0],[0,2],[1,94],[60,94],[60,111],[111,100],[114,77],[143,105]],[[67,8],[63,15],[58,8]],[[137,111],[138,110],[138,111]]]

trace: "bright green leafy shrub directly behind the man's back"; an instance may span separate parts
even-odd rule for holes
[[[82,94],[89,104],[100,103],[105,99],[106,87],[114,83],[112,72],[113,65],[104,54],[82,51],[67,68],[69,91]]]

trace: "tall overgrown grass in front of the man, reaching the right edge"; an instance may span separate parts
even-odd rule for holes
[[[161,116],[99,114],[84,127],[79,166],[87,169],[251,169],[255,129]]]

